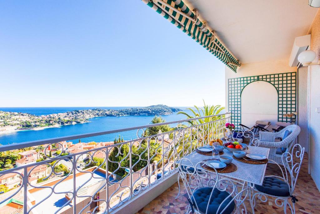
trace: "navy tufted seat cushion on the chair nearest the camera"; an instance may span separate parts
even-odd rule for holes
[[[208,205],[208,202],[209,202],[209,198],[210,198],[210,194],[211,194],[212,189],[213,189],[212,187],[203,187],[203,188],[200,188],[200,189],[196,190],[193,193],[192,202],[194,203],[195,208],[196,208],[196,204],[195,204],[195,201],[196,201],[196,203],[198,205],[198,208],[199,208],[199,211],[202,212],[202,213],[206,213],[207,205]],[[209,204],[209,208],[208,208],[208,212],[207,213],[208,214],[216,214],[220,204],[228,196],[229,196],[228,192],[220,191],[217,188],[214,188],[213,193],[212,193],[212,197],[210,199],[210,204]],[[228,203],[230,201],[231,201],[231,203],[228,205]],[[221,213],[221,211],[225,207],[227,207],[227,208],[226,208],[226,210],[224,212],[222,212],[222,214],[232,213],[232,211],[235,209],[235,206],[236,206],[236,204],[235,204],[232,196],[230,196],[226,201],[223,202],[223,204],[221,205],[218,213]]]

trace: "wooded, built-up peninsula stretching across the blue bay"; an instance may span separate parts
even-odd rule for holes
[[[89,122],[88,119],[100,116],[141,116],[141,115],[170,115],[181,111],[180,108],[166,105],[148,107],[114,109],[74,110],[65,113],[36,116],[28,113],[0,111],[0,133],[14,132],[24,129],[41,129],[59,125],[80,124]]]

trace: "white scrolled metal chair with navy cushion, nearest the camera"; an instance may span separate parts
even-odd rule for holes
[[[205,162],[193,165],[187,158],[181,158],[180,161],[179,174],[186,188],[189,202],[186,213],[247,213],[244,204],[244,200],[249,195],[247,186],[244,185],[238,191],[236,181],[220,178],[215,169],[214,172],[199,170]]]

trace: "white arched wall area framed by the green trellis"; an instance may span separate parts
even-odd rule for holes
[[[278,94],[266,81],[252,82],[241,93],[241,123],[252,127],[252,121],[278,121]]]

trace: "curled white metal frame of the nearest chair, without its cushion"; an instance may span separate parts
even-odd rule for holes
[[[221,192],[227,191],[229,193],[229,196],[221,201],[220,206],[217,210],[217,214],[223,213],[225,209],[227,209],[227,207],[232,203],[232,201],[235,202],[236,209],[241,210],[241,205],[245,206],[244,200],[246,200],[247,196],[249,195],[249,189],[243,188],[241,191],[238,191],[236,185],[234,184],[236,181],[228,178],[220,178],[215,168],[213,168],[214,171],[212,172],[204,170],[203,168],[201,168],[204,163],[205,162],[201,161],[194,165],[188,158],[180,159],[178,172],[188,193],[188,202],[190,206],[199,210],[199,204],[197,204],[195,200],[194,193],[196,192],[196,190],[202,187],[212,187],[209,201],[211,201],[212,199],[215,188]],[[225,208],[222,208],[221,205],[230,198],[232,198],[233,200],[230,200]],[[210,203],[207,204],[205,213],[208,213],[209,205]]]

